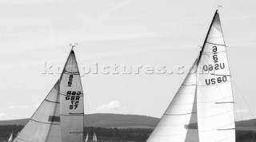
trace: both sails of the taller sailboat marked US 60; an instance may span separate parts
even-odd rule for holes
[[[216,10],[194,68],[147,142],[235,142],[234,121],[226,44]]]

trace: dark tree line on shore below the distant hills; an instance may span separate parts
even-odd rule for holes
[[[22,130],[23,125],[1,125],[0,141],[7,140],[10,133],[13,132],[17,136]],[[92,139],[94,132],[98,137],[98,141],[146,141],[153,129],[150,128],[94,128],[85,127],[84,136],[89,135]],[[255,131],[236,130],[236,139],[238,142],[256,141]]]

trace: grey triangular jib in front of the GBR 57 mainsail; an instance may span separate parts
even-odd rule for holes
[[[59,82],[50,90],[46,99],[38,107],[27,124],[18,133],[14,142],[61,142],[59,116]]]

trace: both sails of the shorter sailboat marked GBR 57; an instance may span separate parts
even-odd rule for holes
[[[82,142],[83,109],[81,78],[71,49],[61,77],[14,142]]]

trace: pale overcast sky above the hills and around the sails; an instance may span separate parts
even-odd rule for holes
[[[192,65],[217,5],[236,119],[256,116],[254,0],[1,0],[0,120],[34,113],[60,77],[45,65],[63,66],[70,43],[78,42],[74,52],[81,66]],[[185,76],[86,74],[85,113],[160,117]]]

